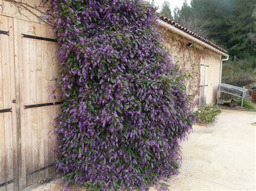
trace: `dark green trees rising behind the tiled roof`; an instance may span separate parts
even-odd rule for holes
[[[245,59],[256,53],[255,5],[255,0],[192,0],[190,5],[185,1],[181,9],[174,9],[173,19],[231,56]]]

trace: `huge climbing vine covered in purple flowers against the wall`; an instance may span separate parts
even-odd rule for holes
[[[51,0],[61,67],[57,168],[70,185],[140,189],[176,174],[195,117],[143,0]]]

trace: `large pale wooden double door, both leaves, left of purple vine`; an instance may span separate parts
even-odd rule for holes
[[[0,190],[21,190],[55,174],[49,86],[58,45],[51,27],[0,16]]]

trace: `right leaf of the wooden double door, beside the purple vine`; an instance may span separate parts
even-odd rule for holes
[[[57,74],[58,45],[51,27],[18,19],[19,89],[21,103],[22,182],[29,186],[55,174],[53,119],[59,105],[49,98]],[[46,39],[47,38],[47,39]]]

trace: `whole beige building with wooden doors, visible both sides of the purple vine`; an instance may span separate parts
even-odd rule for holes
[[[0,0],[1,190],[22,190],[56,173],[52,122],[60,106],[48,97],[59,67],[56,36],[38,22],[43,11],[31,9],[39,0],[17,2],[22,9]],[[192,103],[214,103],[227,52],[169,19],[158,22],[173,61],[192,76]]]

